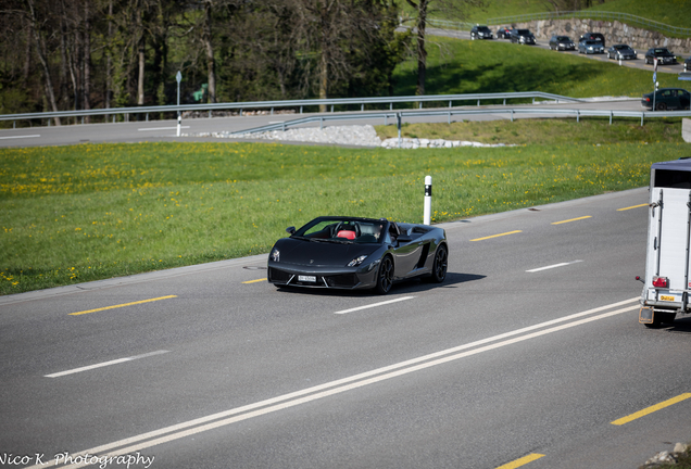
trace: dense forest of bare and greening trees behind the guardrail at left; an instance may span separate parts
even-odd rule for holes
[[[180,103],[388,96],[415,53],[394,0],[0,3],[1,114],[175,104],[178,71]]]

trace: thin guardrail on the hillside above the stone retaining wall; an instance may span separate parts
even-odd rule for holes
[[[561,17],[619,21],[626,24],[640,25],[646,29],[655,29],[661,33],[671,33],[679,36],[691,37],[691,28],[670,26],[664,23],[659,23],[653,20],[648,20],[641,16],[636,16],[628,13],[605,12],[605,11],[595,11],[595,10],[542,12],[542,13],[527,13],[527,14],[514,15],[514,16],[499,16],[499,17],[488,18],[487,23],[491,25],[501,25],[501,24],[511,24],[511,23],[525,23],[525,22],[535,21],[535,20],[556,20]]]

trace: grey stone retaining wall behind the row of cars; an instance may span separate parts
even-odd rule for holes
[[[639,53],[645,53],[648,49],[653,47],[666,47],[684,58],[691,51],[691,38],[668,38],[663,36],[662,33],[640,29],[618,21],[607,22],[586,18],[535,20],[528,23],[514,23],[511,26],[530,29],[536,38],[544,40],[549,40],[552,35],[564,35],[570,37],[574,42],[578,42],[578,38],[583,33],[602,33],[607,48],[614,43],[628,43]]]

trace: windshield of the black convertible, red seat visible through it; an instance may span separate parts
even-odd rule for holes
[[[303,238],[315,242],[379,243],[387,223],[387,220],[319,217],[300,228],[291,238]]]

